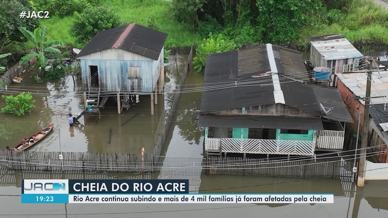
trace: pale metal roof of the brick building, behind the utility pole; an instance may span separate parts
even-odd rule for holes
[[[364,98],[366,94],[367,75],[362,73],[339,73],[338,79],[353,92],[355,96]],[[388,102],[388,71],[372,72],[371,104]],[[365,101],[359,99],[365,105]]]

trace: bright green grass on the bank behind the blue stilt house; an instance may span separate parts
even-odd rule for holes
[[[192,33],[189,26],[175,21],[171,3],[166,0],[107,0],[99,4],[111,7],[127,23],[135,22],[143,26],[152,25],[154,29],[168,34],[166,46],[186,46],[201,41],[199,34]],[[78,46],[69,33],[73,16],[64,18],[50,16],[42,19],[42,25],[50,31],[49,38],[61,40],[66,45]]]

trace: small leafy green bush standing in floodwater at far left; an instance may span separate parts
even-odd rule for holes
[[[35,107],[35,100],[32,99],[30,93],[20,93],[19,95],[2,95],[7,105],[1,110],[3,112],[9,112],[16,116],[22,116],[26,112],[31,112],[31,109]]]

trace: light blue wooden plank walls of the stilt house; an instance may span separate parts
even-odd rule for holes
[[[161,57],[163,58],[163,55]],[[103,91],[128,91],[128,67],[140,67],[142,78],[141,92],[152,92],[160,75],[158,61],[120,61],[120,60],[92,60],[81,59],[81,75],[83,83],[90,85],[90,67],[98,67],[99,85]]]

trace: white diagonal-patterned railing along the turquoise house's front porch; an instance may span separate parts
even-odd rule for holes
[[[314,155],[314,141],[252,138],[206,138],[206,151],[242,154]]]

